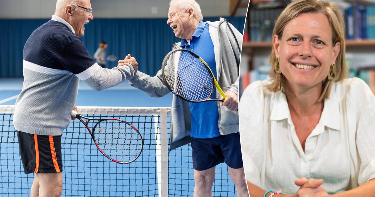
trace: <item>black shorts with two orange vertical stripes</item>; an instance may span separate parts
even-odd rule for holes
[[[17,131],[25,174],[63,171],[61,135],[37,135]]]

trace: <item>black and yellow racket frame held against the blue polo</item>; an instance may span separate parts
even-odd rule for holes
[[[166,66],[166,63],[168,61],[168,57],[172,54],[172,53],[175,53],[176,51],[181,51],[182,52],[186,52],[186,53],[190,53],[192,56],[194,56],[196,59],[198,59],[199,61],[201,61],[203,63],[203,65],[205,66],[205,68],[208,70],[208,73],[210,74],[211,76],[211,81],[212,83],[215,85],[217,91],[219,91],[220,95],[223,96],[223,98],[225,99],[226,98],[226,95],[225,93],[223,92],[223,90],[220,88],[219,84],[217,83],[216,81],[216,78],[214,77],[213,75],[213,72],[211,71],[210,67],[207,65],[207,63],[201,58],[199,57],[197,54],[193,53],[192,51],[189,51],[189,50],[186,50],[186,49],[175,49],[175,50],[172,50],[172,51],[169,51],[168,54],[166,54],[166,56],[164,57],[163,59],[163,63],[162,63],[162,76],[163,76],[163,81],[164,81],[164,84],[165,86],[169,89],[169,91],[171,91],[174,95],[178,96],[179,98],[183,99],[184,101],[188,101],[188,102],[205,102],[205,101],[220,101],[220,102],[223,102],[224,99],[219,99],[219,98],[210,98],[212,93],[213,93],[213,88],[211,89],[211,92],[210,92],[210,95],[207,96],[206,99],[203,99],[203,100],[199,100],[199,101],[195,101],[195,100],[190,100],[190,99],[187,99],[187,98],[184,98],[183,96],[179,95],[177,92],[175,92],[171,86],[169,86],[168,82],[166,81],[166,77],[165,77],[165,72],[164,72],[164,69],[165,69],[165,66]]]

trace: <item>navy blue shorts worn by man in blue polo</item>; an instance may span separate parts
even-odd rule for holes
[[[191,137],[193,168],[207,170],[225,161],[231,168],[242,168],[240,133],[214,138]]]

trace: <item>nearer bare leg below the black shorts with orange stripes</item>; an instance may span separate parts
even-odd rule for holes
[[[36,173],[39,197],[60,197],[63,192],[63,173]]]

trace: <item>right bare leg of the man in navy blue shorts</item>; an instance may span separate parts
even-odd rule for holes
[[[242,168],[234,169],[228,166],[229,175],[236,185],[237,188],[237,196],[238,197],[248,197],[249,192],[248,188],[246,187],[246,179],[245,179],[245,172]]]

